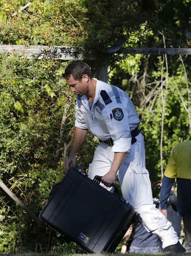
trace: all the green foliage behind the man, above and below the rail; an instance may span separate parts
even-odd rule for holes
[[[158,196],[161,179],[162,92],[167,93],[164,168],[173,146],[189,138],[182,62],[178,56],[168,56],[168,89],[165,92],[164,67],[161,92],[162,56],[106,55],[105,50],[113,45],[163,47],[158,31],[163,31],[167,47],[189,47],[189,2],[31,0],[21,11],[24,1],[0,0],[0,44],[82,46],[84,58],[90,54],[100,62],[108,58],[110,83],[130,95],[146,133],[146,164],[154,196]],[[28,60],[13,52],[1,53],[0,59],[0,178],[38,216],[51,188],[65,175],[64,148],[73,134],[75,96],[61,76],[68,62]],[[190,87],[190,57],[183,61]],[[94,73],[94,62],[87,62]],[[66,121],[61,125],[63,115]],[[96,138],[88,134],[78,153],[82,169],[88,170],[97,145]],[[49,230],[37,227],[4,192],[1,195],[0,250],[49,250]],[[81,252],[60,234],[51,233],[51,241],[51,250]]]

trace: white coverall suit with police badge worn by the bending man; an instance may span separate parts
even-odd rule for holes
[[[97,80],[97,79],[96,79]],[[103,95],[100,92],[106,91]],[[104,93],[105,95],[105,93]],[[145,147],[139,133],[137,141],[131,145],[131,133],[140,124],[137,112],[130,98],[123,90],[97,80],[93,106],[89,107],[86,95],[76,97],[75,126],[88,129],[102,142],[97,147],[88,176],[105,175],[111,167],[114,152],[127,152],[118,170],[123,198],[140,213],[143,225],[148,232],[157,234],[165,248],[178,242],[171,222],[153,204],[153,196],[148,170],[145,168]],[[112,138],[113,146],[105,140]],[[103,187],[110,190],[103,183]]]

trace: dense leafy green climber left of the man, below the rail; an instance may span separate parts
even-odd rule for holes
[[[11,190],[26,205],[30,204],[37,216],[51,186],[64,176],[62,163],[57,171],[52,167],[63,108],[70,95],[59,74],[59,70],[65,65],[52,60],[27,60],[16,54],[7,58],[5,54],[1,54],[0,175],[6,184],[9,181]],[[73,101],[70,105],[73,105]],[[64,127],[66,130],[73,127],[73,111],[74,108],[68,108],[66,113],[67,120],[70,121]],[[69,138],[66,139],[66,136],[64,134],[64,141],[67,143]],[[6,215],[1,214],[1,223],[4,223],[5,216],[9,218],[7,205],[5,211]],[[23,242],[26,239],[24,233],[28,229],[28,217],[24,212],[19,215],[26,222],[20,222],[18,226],[20,218],[17,215],[17,231],[15,222],[10,220],[8,225],[1,225],[1,250],[6,250],[11,245],[15,248],[15,243],[19,242],[17,233],[21,235]],[[33,228],[29,234],[35,235]]]

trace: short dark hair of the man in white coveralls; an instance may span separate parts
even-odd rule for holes
[[[65,79],[68,79],[72,75],[74,80],[81,81],[84,74],[88,75],[89,78],[92,79],[91,70],[88,64],[83,61],[72,61],[68,64],[62,76]]]

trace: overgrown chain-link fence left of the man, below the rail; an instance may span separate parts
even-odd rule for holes
[[[16,54],[11,58],[2,54],[1,60],[0,182],[38,218],[52,186],[65,175],[64,161],[73,136],[75,95],[62,78],[68,63],[27,60]],[[88,135],[78,157],[84,170],[96,145]],[[2,186],[0,191],[0,250],[33,248],[34,244],[37,251],[47,250],[49,231],[46,235],[46,229],[39,228]],[[63,241],[55,243],[61,246]]]

